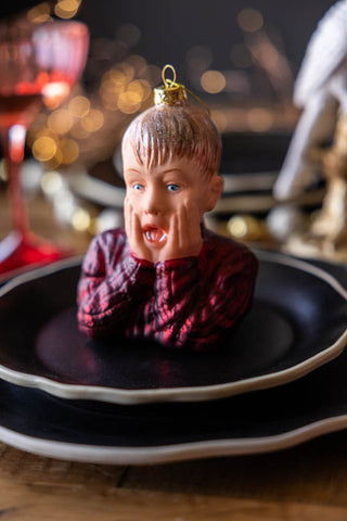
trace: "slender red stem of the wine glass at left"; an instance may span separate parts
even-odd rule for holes
[[[21,165],[24,158],[26,128],[24,125],[13,125],[8,136],[8,173],[9,195],[12,219],[15,230],[23,239],[29,234],[27,206],[21,183]]]

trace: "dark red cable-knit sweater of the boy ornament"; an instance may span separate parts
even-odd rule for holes
[[[123,229],[90,244],[78,284],[78,322],[92,339],[146,338],[167,347],[216,348],[248,309],[257,260],[203,229],[197,257],[153,264],[129,250]]]

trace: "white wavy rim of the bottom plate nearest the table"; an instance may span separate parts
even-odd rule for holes
[[[347,414],[344,414],[322,418],[280,434],[267,436],[224,437],[167,445],[119,447],[117,445],[92,445],[48,440],[0,425],[0,441],[31,454],[68,461],[101,465],[157,465],[200,458],[271,453],[291,448],[346,428]]]

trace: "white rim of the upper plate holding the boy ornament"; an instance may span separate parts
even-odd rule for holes
[[[256,255],[260,260],[262,259],[272,263],[275,262],[291,266],[324,280],[347,302],[347,291],[332,275],[322,268],[317,267],[306,260],[271,251],[257,251]],[[42,278],[68,267],[76,267],[78,264],[80,264],[81,259],[82,255],[78,255],[68,259],[60,260],[49,266],[40,267],[27,274],[20,275],[0,288],[0,297],[25,282]],[[233,382],[213,385],[198,385],[195,387],[124,390],[119,387],[106,387],[102,385],[91,386],[61,383],[55,380],[51,380],[48,377],[29,374],[10,369],[2,364],[0,364],[0,378],[16,385],[39,389],[65,399],[94,399],[119,405],[141,405],[160,402],[201,402],[231,397],[250,391],[271,389],[277,385],[282,385],[297,380],[298,378],[304,377],[318,367],[336,358],[344,351],[346,343],[347,325],[345,331],[332,345],[286,369],[274,371],[268,374],[246,378],[244,380],[236,380]]]

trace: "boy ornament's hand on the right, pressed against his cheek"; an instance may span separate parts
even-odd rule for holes
[[[201,216],[195,203],[184,202],[170,219],[166,244],[158,260],[197,256],[203,246]]]

